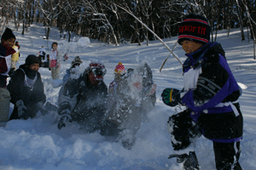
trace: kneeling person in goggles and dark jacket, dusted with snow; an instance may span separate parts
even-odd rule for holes
[[[95,60],[79,78],[68,79],[58,99],[59,129],[72,121],[88,133],[102,127],[108,99],[108,88],[103,82],[106,72],[105,65]]]

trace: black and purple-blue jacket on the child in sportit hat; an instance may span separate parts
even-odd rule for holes
[[[207,139],[222,143],[241,140],[242,116],[237,101],[241,92],[223,48],[218,42],[208,42],[186,55],[182,102],[190,116],[201,125]]]

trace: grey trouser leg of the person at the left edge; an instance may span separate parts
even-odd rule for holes
[[[9,121],[10,94],[8,89],[0,88],[0,127]]]

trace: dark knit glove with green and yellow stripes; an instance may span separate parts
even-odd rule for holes
[[[166,105],[170,105],[172,107],[181,103],[180,91],[175,88],[164,89],[161,97]]]

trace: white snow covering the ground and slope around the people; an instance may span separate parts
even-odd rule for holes
[[[17,65],[24,64],[28,54],[38,54],[39,47],[44,46],[49,54],[52,42],[58,42],[61,50],[68,51],[69,58],[61,62],[61,79],[70,67],[75,56],[80,56],[83,71],[90,60],[102,61],[108,70],[104,82],[109,85],[113,81],[115,65],[122,62],[125,70],[136,68],[147,61],[152,68],[156,88],[156,105],[154,111],[148,113],[147,120],[142,122],[138,130],[137,141],[131,150],[126,150],[120,142],[115,143],[100,135],[100,133],[83,133],[75,123],[67,124],[61,130],[57,128],[55,111],[28,120],[9,121],[5,127],[0,127],[0,169],[2,170],[84,170],[84,169],[141,169],[141,170],[179,170],[175,159],[168,160],[173,154],[171,138],[166,130],[168,117],[178,111],[164,105],[160,94],[165,88],[183,88],[182,65],[172,55],[160,72],[160,65],[170,54],[169,50],[159,41],[137,44],[107,45],[103,42],[81,37],[78,42],[61,40],[58,29],[51,28],[49,40],[43,39],[44,26],[32,25],[25,35],[21,29],[16,31],[13,22],[9,27],[14,30],[17,41],[20,42],[21,57]],[[246,30],[245,30],[246,31]],[[244,136],[241,140],[241,167],[246,170],[256,169],[256,60],[253,59],[253,41],[241,42],[239,29],[218,31],[217,41],[226,52],[230,68],[236,81],[243,89],[240,104],[244,117]],[[72,34],[72,37],[76,35]],[[33,39],[31,42],[30,39]],[[177,37],[164,39],[172,48]],[[183,49],[178,46],[175,55],[185,60]],[[61,87],[53,88],[50,71],[40,68],[44,82],[44,93],[47,100],[57,105],[58,93]],[[61,83],[61,82],[60,82]],[[13,105],[11,106],[13,109]],[[195,148],[201,169],[212,170],[214,154],[212,142],[201,137],[191,147]]]

